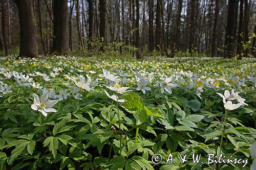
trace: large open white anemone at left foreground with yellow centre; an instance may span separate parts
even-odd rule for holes
[[[52,107],[58,102],[58,100],[52,100],[47,101],[49,92],[42,94],[41,101],[38,98],[37,94],[33,94],[34,96],[34,102],[31,108],[35,111],[39,111],[42,113],[42,115],[47,116],[48,112],[57,112],[56,109],[53,109]]]

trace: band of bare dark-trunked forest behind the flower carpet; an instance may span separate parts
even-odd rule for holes
[[[0,0],[0,51],[255,57],[255,0]]]

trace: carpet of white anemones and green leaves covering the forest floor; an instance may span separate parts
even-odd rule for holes
[[[256,59],[1,57],[0,169],[250,169],[255,74]]]

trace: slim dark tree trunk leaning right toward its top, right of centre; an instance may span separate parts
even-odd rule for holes
[[[172,55],[171,57],[174,58],[174,54],[176,51],[178,51],[179,48],[179,36],[180,36],[180,18],[181,18],[181,9],[182,9],[182,0],[179,0],[178,4],[178,15],[176,16],[176,25],[175,25],[175,31],[174,31],[174,41],[172,46]]]

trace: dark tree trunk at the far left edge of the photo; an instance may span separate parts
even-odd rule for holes
[[[8,5],[5,0],[1,1],[2,7],[2,33],[4,40],[5,55],[9,55],[9,44],[8,44]]]

